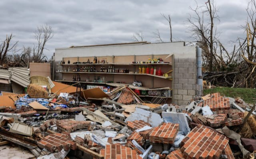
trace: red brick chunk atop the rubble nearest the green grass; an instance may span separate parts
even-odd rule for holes
[[[204,106],[209,106],[212,111],[216,110],[229,110],[229,98],[223,98],[220,93],[211,94],[212,98],[204,100]]]

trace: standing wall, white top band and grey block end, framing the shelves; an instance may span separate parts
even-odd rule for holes
[[[55,71],[63,57],[120,56],[120,55],[174,54],[174,100],[175,104],[186,104],[196,95],[196,47],[184,46],[184,42],[150,43],[132,45],[109,45],[55,49]],[[62,79],[55,73],[54,79]]]

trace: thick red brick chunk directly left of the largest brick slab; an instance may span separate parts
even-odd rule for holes
[[[149,141],[152,143],[172,144],[179,131],[179,124],[164,123],[150,133]]]

